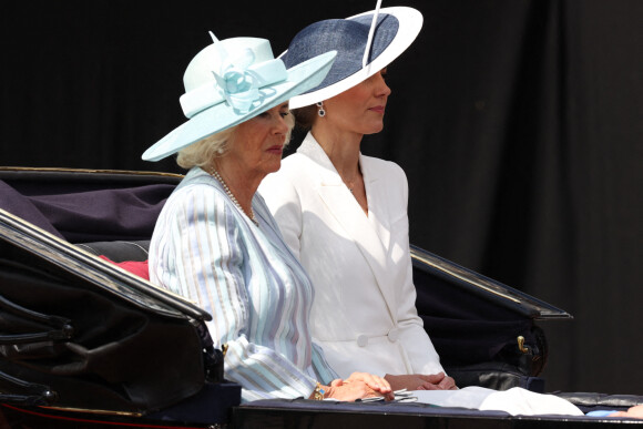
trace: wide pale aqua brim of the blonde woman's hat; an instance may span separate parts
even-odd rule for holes
[[[163,160],[192,143],[238,125],[317,86],[330,70],[336,54],[336,51],[326,52],[288,69],[288,78],[285,81],[259,90],[261,102],[248,112],[239,113],[228,106],[226,102],[198,112],[147,149],[142,159],[145,161]]]

